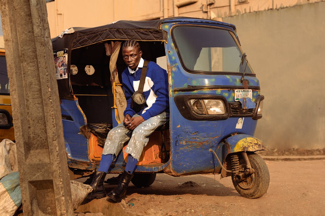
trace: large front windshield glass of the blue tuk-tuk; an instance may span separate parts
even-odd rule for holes
[[[209,27],[178,26],[173,31],[178,51],[189,71],[252,73],[242,60],[233,32]],[[246,68],[246,69],[245,69]]]

